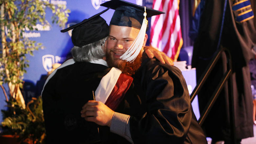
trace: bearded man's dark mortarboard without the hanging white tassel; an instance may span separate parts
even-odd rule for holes
[[[144,7],[122,0],[111,0],[101,6],[115,10],[109,25],[134,27],[140,29],[143,22]],[[147,18],[164,12],[146,8]]]

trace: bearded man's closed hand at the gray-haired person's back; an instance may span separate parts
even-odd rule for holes
[[[89,100],[82,108],[81,116],[101,126],[111,125],[114,111],[100,101]]]

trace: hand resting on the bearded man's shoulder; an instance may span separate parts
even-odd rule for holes
[[[149,58],[153,58],[154,56],[163,64],[167,63],[173,66],[173,61],[164,52],[159,51],[158,49],[151,46],[144,46],[144,51],[148,55]]]

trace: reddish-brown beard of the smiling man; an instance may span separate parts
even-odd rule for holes
[[[106,61],[108,66],[111,67],[116,67],[119,70],[121,70],[123,73],[128,74],[128,75],[133,75],[135,72],[138,71],[139,67],[141,66],[141,59],[142,59],[142,52],[139,53],[139,55],[136,57],[136,59],[133,62],[127,62],[124,60],[121,60],[121,62],[115,64],[114,59],[112,58],[111,53],[107,52],[106,53]]]

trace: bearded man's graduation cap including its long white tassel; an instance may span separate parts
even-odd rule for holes
[[[123,0],[111,0],[101,4],[101,6],[115,10],[110,21],[110,25],[133,27],[140,30],[131,47],[122,56],[120,56],[120,59],[122,60],[133,62],[139,55],[143,46],[148,24],[147,17],[162,14],[164,12],[139,6]]]

